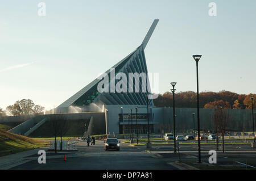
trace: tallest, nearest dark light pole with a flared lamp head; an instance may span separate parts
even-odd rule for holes
[[[201,145],[200,145],[200,114],[199,114],[199,81],[198,81],[198,62],[201,55],[193,55],[196,61],[196,82],[197,82],[197,132],[198,132],[198,162],[201,163]]]

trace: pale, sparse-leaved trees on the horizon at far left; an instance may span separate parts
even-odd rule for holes
[[[0,116],[40,115],[43,111],[44,107],[35,105],[31,99],[22,99],[7,106],[6,110],[0,108]]]

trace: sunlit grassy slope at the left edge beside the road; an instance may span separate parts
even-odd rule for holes
[[[33,138],[0,130],[0,157],[19,151],[43,147],[46,146],[46,144],[47,142],[43,140],[35,140]]]

